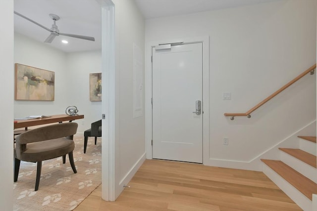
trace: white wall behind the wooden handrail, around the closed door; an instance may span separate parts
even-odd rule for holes
[[[146,43],[210,36],[205,165],[261,170],[249,162],[316,119],[316,75],[305,76],[251,119],[223,116],[247,112],[316,63],[316,3],[282,0],[146,20]],[[222,100],[223,92],[231,92],[231,100]]]

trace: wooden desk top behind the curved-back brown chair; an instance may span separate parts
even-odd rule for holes
[[[32,120],[17,120],[14,123],[14,129],[22,128],[31,126],[39,126],[45,125],[50,123],[62,123],[64,121],[71,122],[73,120],[84,119],[84,115],[77,115],[77,116],[68,116],[67,114],[59,114],[59,115],[52,115],[51,117],[39,118],[39,119],[32,119]]]

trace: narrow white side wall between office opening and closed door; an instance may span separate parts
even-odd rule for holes
[[[145,118],[133,118],[133,43],[144,54],[144,19],[132,0],[115,4],[115,197],[145,160]],[[144,73],[143,73],[144,75]],[[143,76],[144,78],[144,76]],[[144,96],[144,90],[143,94]]]

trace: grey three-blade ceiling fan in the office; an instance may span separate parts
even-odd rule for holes
[[[30,21],[30,22],[42,27],[43,29],[46,29],[47,31],[49,31],[51,34],[49,35],[49,37],[44,42],[51,43],[54,40],[54,38],[56,36],[58,36],[58,35],[68,36],[68,37],[72,37],[72,38],[79,38],[79,39],[88,40],[88,41],[95,41],[95,38],[93,38],[93,37],[60,33],[58,28],[57,28],[57,26],[56,26],[56,24],[55,24],[55,22],[59,20],[58,15],[50,14],[50,17],[53,19],[54,23],[52,25],[52,28],[49,29],[49,28],[47,28],[47,27],[35,22],[32,19],[30,19],[28,17],[25,17],[24,15],[22,15],[22,14],[16,12],[16,11],[14,11],[14,14],[17,14],[17,15],[21,16],[22,18],[24,18],[24,19],[26,19],[26,20],[28,20],[28,21]]]

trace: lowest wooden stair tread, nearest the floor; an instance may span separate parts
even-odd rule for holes
[[[261,161],[264,162],[264,164],[266,164],[269,168],[273,169],[310,200],[313,198],[312,194],[317,194],[317,184],[295,169],[292,169],[281,161],[266,159],[261,159]]]

